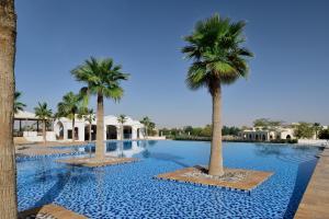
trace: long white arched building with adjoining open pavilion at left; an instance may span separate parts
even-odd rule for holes
[[[14,116],[14,135],[24,137],[29,141],[43,141],[42,120],[34,113],[19,112]],[[121,124],[116,116],[104,116],[104,140],[120,140]],[[75,135],[73,135],[75,132]],[[95,140],[97,122],[91,124],[91,140]],[[46,138],[48,141],[68,141],[75,137],[77,141],[89,140],[89,123],[83,118],[76,118],[75,131],[72,131],[72,120],[69,118],[58,118],[52,120],[47,127]],[[145,128],[139,120],[126,117],[123,124],[123,139],[144,139]]]

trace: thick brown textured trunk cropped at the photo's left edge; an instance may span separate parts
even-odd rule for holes
[[[13,0],[0,0],[0,218],[16,219],[13,101],[16,15]]]

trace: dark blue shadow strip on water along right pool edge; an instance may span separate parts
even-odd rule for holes
[[[294,215],[298,208],[298,205],[302,200],[303,194],[307,187],[307,184],[310,180],[310,176],[314,172],[316,164],[317,164],[317,159],[313,159],[310,161],[303,162],[298,165],[294,191],[291,196],[286,211],[284,214],[283,217],[284,219],[294,218]]]

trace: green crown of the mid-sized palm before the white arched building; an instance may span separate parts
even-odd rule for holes
[[[87,88],[82,88],[82,91],[118,101],[123,95],[120,82],[128,79],[128,74],[121,72],[121,69],[122,67],[115,66],[111,58],[98,60],[91,57],[83,65],[75,68],[71,73],[78,81],[87,83]]]

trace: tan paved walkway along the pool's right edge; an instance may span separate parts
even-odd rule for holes
[[[295,218],[329,218],[329,148],[320,155]]]

